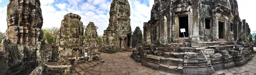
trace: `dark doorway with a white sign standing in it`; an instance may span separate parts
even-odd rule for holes
[[[179,17],[179,28],[185,28],[186,32],[184,32],[184,35],[185,37],[189,37],[189,17],[187,15]],[[184,35],[183,32],[180,32],[179,37],[184,37]]]

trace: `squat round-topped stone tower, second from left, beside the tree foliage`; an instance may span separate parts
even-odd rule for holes
[[[83,22],[77,14],[68,13],[61,21],[59,44],[65,47],[81,47],[84,34]]]

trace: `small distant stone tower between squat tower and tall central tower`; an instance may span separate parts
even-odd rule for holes
[[[85,36],[84,44],[86,44],[87,46],[96,46],[98,44],[97,28],[93,24],[93,22],[90,22],[86,26],[84,36]]]

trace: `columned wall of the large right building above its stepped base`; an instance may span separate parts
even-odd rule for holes
[[[188,28],[185,28],[185,35],[188,36],[185,38],[179,37],[182,34],[179,21],[184,16],[188,17]],[[155,0],[149,21],[151,42],[167,44],[189,39],[185,41],[191,42],[193,47],[199,47],[199,41],[235,41],[239,37],[244,39],[250,28],[240,21],[236,0]],[[219,22],[223,22],[223,27],[219,27]],[[223,37],[220,38],[219,35]]]

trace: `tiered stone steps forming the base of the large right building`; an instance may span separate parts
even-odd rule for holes
[[[211,75],[245,64],[252,59],[254,46],[240,42],[203,42],[201,48],[189,45],[185,42],[147,45],[134,49],[131,57],[154,70],[178,75]]]

